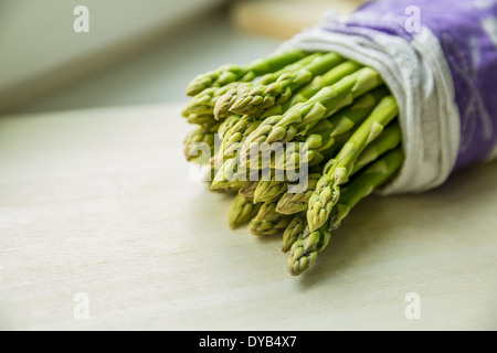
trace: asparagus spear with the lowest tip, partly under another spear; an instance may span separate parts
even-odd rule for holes
[[[329,232],[337,229],[350,211],[371,192],[387,183],[401,168],[404,153],[401,147],[388,152],[357,175],[343,191],[339,202],[334,206],[329,220],[317,231],[304,232],[290,249],[287,267],[296,276],[309,268],[318,253],[329,243]]]

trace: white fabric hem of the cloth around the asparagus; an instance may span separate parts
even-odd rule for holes
[[[329,11],[324,21],[346,19]],[[284,42],[279,49],[292,47],[332,51],[373,67],[398,100],[405,162],[380,193],[423,192],[448,178],[457,158],[461,122],[448,65],[429,29],[421,29],[409,43],[388,34],[377,33],[371,39],[330,32],[317,25]]]

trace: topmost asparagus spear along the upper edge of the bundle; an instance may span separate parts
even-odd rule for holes
[[[294,50],[255,60],[246,66],[223,65],[194,77],[187,87],[187,95],[195,96],[209,87],[221,87],[236,81],[252,81],[256,76],[277,71],[306,55],[304,51]]]

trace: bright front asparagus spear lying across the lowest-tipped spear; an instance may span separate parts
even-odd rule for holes
[[[384,97],[341,148],[309,199],[307,222],[310,231],[318,229],[328,220],[332,206],[340,197],[340,184],[347,180],[357,157],[396,117],[398,111],[393,96]]]

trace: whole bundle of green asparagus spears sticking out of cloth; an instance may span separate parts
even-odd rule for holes
[[[336,53],[292,50],[225,65],[195,77],[187,94],[183,116],[197,126],[187,160],[210,165],[211,190],[233,194],[231,227],[283,235],[294,276],[404,160],[399,108],[380,75]]]

